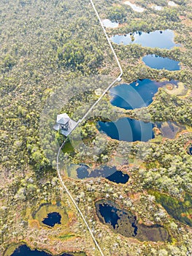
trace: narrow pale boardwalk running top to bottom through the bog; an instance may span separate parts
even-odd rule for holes
[[[117,63],[118,63],[118,67],[119,67],[119,69],[120,69],[120,75],[118,75],[118,78],[116,78],[112,83],[110,83],[110,85],[107,87],[107,89],[105,89],[104,92],[101,94],[101,96],[99,97],[99,99],[97,99],[96,102],[91,106],[91,108],[89,108],[89,110],[85,113],[85,115],[84,115],[79,121],[77,121],[77,124],[76,124],[76,126],[74,127],[74,129],[76,129],[76,128],[79,126],[79,124],[82,123],[82,121],[85,120],[85,118],[88,116],[88,114],[91,113],[91,111],[93,110],[93,108],[100,102],[100,100],[102,99],[102,97],[104,97],[104,95],[107,93],[107,91],[109,91],[110,88],[111,88],[115,83],[119,82],[119,81],[121,80],[121,76],[123,75],[123,69],[122,69],[122,67],[120,66],[120,61],[118,60],[118,56],[116,55],[115,50],[114,50],[114,48],[112,47],[112,43],[110,42],[110,38],[109,38],[108,35],[107,35],[107,32],[106,32],[106,30],[105,30],[105,28],[104,28],[104,25],[103,25],[103,23],[102,23],[102,21],[101,21],[101,18],[100,18],[100,16],[99,16],[99,13],[97,12],[95,5],[93,4],[93,1],[90,0],[90,2],[91,2],[91,4],[92,4],[93,10],[96,12],[96,16],[97,16],[97,18],[99,19],[99,23],[101,24],[101,27],[102,27],[102,29],[103,29],[103,31],[104,31],[104,34],[105,34],[105,37],[107,37],[107,41],[108,41],[108,43],[109,43],[109,45],[110,45],[110,48],[111,48],[111,50],[112,50],[112,53],[113,53],[114,56],[115,56],[115,60],[116,60]],[[74,131],[74,129],[69,133],[69,135],[72,134],[72,132]],[[66,140],[69,138],[69,135],[67,136]],[[89,233],[91,234],[91,237],[93,238],[93,241],[94,241],[94,243],[96,244],[97,249],[99,249],[100,254],[101,254],[102,256],[104,256],[104,253],[102,252],[102,250],[101,250],[99,244],[97,243],[96,238],[93,236],[93,232],[91,231],[91,228],[89,227],[88,222],[86,221],[85,217],[83,216],[82,211],[80,211],[80,208],[77,206],[77,203],[75,202],[74,198],[72,197],[71,193],[69,192],[69,189],[67,189],[66,185],[64,184],[64,181],[63,181],[62,178],[61,178],[61,173],[60,173],[60,170],[59,170],[58,162],[59,162],[59,155],[60,155],[61,149],[64,147],[64,145],[65,145],[65,143],[66,143],[66,140],[64,140],[64,142],[62,143],[62,145],[61,145],[60,148],[58,149],[58,154],[57,154],[57,172],[58,172],[58,178],[60,179],[61,184],[62,184],[62,186],[64,187],[64,189],[65,189],[67,195],[69,195],[70,199],[72,200],[72,203],[74,204],[75,208],[77,208],[77,211],[79,212],[80,216],[82,217],[83,222],[85,222],[85,225],[86,225],[86,227],[88,228],[88,231],[89,231]]]

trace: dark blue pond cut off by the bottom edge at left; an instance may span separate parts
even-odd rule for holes
[[[28,246],[22,245],[18,249],[15,249],[15,252],[11,256],[51,256],[47,252],[38,251],[37,249],[31,250]],[[61,256],[73,256],[68,253],[64,253]]]

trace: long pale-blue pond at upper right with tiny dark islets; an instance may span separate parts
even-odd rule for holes
[[[170,29],[164,31],[156,30],[150,33],[138,31],[134,34],[115,35],[111,37],[111,40],[118,45],[139,44],[143,47],[151,48],[171,49],[174,46],[180,46],[174,42],[174,31]]]

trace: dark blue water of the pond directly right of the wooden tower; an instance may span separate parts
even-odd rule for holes
[[[120,118],[115,122],[98,122],[99,131],[106,133],[115,140],[148,141],[154,138],[152,123],[145,123],[131,118]]]

